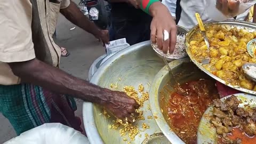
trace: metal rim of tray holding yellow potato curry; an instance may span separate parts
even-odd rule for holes
[[[222,21],[222,22],[206,22],[204,23],[205,27],[206,26],[210,26],[210,25],[229,25],[231,27],[237,27],[238,29],[247,29],[249,30],[250,32],[252,31],[255,31],[256,30],[256,25],[252,22],[246,22],[246,21],[238,21],[238,20],[226,20],[226,21]],[[201,63],[197,62],[195,59],[194,59],[194,56],[193,54],[191,54],[190,52],[190,49],[189,49],[189,42],[190,42],[190,38],[195,34],[197,33],[197,31],[199,31],[199,27],[198,25],[193,27],[192,29],[189,30],[189,32],[187,33],[186,35],[186,38],[185,38],[185,43],[186,43],[186,51],[187,51],[187,54],[188,56],[190,57],[191,61],[193,61],[195,63],[195,65],[203,70],[207,75],[211,76],[212,78],[216,79],[217,81],[221,82],[222,84],[225,84],[229,87],[232,87],[233,89],[236,89],[238,91],[242,91],[242,92],[245,92],[245,93],[250,93],[250,94],[254,94],[256,95],[256,91],[252,91],[252,90],[247,90],[247,89],[244,89],[238,85],[231,85],[231,84],[228,84],[227,82],[223,81],[221,78],[213,75],[212,73],[210,73],[210,71],[206,70],[202,65]]]

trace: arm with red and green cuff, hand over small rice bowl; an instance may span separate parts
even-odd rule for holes
[[[157,0],[109,0],[110,2],[126,2],[141,9],[153,17],[151,21],[151,41],[164,53],[173,53],[176,45],[177,27],[167,7]],[[163,37],[163,32],[167,35]],[[165,33],[166,34],[166,33]],[[157,37],[156,37],[157,35]]]

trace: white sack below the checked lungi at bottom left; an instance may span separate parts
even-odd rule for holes
[[[81,132],[60,123],[47,123],[23,132],[4,144],[90,144]]]

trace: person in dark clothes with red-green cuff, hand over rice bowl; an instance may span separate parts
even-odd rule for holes
[[[108,2],[112,7],[110,41],[126,38],[127,43],[132,45],[151,38],[164,53],[168,50],[171,53],[174,51],[177,27],[169,10],[160,1],[108,0]]]

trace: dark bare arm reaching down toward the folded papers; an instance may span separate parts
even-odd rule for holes
[[[84,29],[88,33],[101,39],[104,43],[109,43],[109,35],[107,30],[101,30],[89,18],[87,18],[77,7],[77,5],[70,1],[70,4],[65,9],[61,9],[60,13],[66,17],[70,22],[76,26]]]

